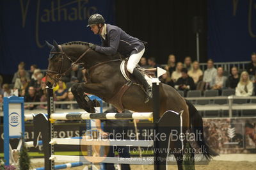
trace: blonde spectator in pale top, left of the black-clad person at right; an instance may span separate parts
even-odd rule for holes
[[[223,89],[226,87],[227,77],[223,75],[223,68],[220,66],[217,69],[217,75],[210,82],[211,89]]]

